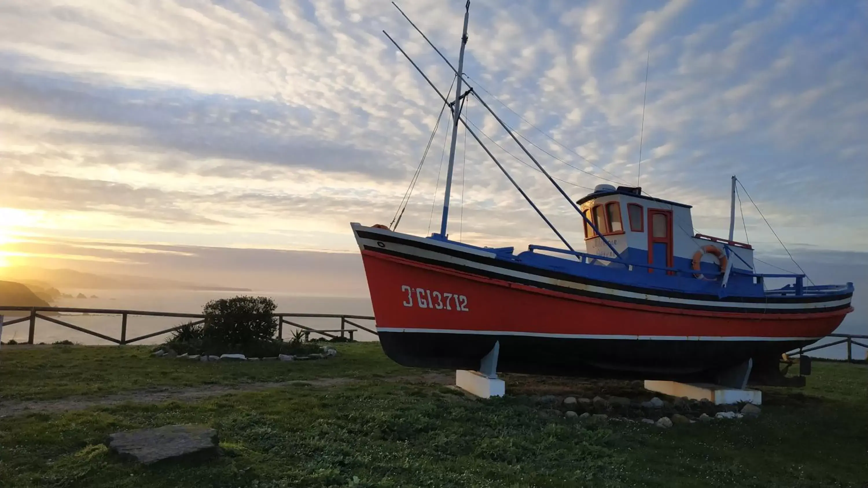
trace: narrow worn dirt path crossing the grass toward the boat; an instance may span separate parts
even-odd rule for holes
[[[444,374],[422,374],[418,376],[386,378],[384,380],[389,382],[448,384],[446,378],[447,376]],[[22,415],[25,413],[56,413],[84,410],[91,407],[111,407],[122,403],[161,403],[169,400],[194,401],[223,394],[260,392],[273,388],[298,385],[337,387],[361,381],[365,380],[354,378],[321,378],[317,380],[248,383],[243,385],[208,385],[204,387],[148,389],[124,394],[112,394],[103,397],[72,396],[58,400],[3,401],[0,402],[0,418]]]

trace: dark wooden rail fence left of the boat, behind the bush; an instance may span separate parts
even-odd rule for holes
[[[197,321],[191,322],[193,324],[200,324],[205,322],[205,316],[202,314],[182,314],[176,312],[154,312],[149,310],[126,310],[126,309],[76,309],[71,307],[7,307],[0,306],[0,318],[3,317],[3,312],[12,311],[12,312],[28,312],[27,316],[18,317],[12,320],[7,320],[0,322],[0,327],[7,327],[10,325],[14,325],[16,323],[21,322],[30,322],[30,328],[28,329],[27,334],[27,343],[32,344],[34,338],[36,336],[36,321],[43,320],[45,322],[52,322],[56,325],[60,325],[67,329],[77,330],[78,332],[82,332],[84,334],[93,335],[95,337],[99,337],[105,341],[114,342],[119,345],[131,344],[133,342],[144,341],[145,339],[149,339],[151,337],[155,337],[157,335],[168,334],[170,332],[174,332],[175,330],[181,329],[184,324],[179,324],[174,327],[170,327],[168,329],[158,330],[156,332],[151,332],[145,335],[139,335],[138,337],[133,337],[132,339],[127,338],[127,324],[129,316],[157,316],[157,317],[174,317],[174,318],[190,318],[190,319],[199,319]],[[42,313],[41,313],[42,312]],[[119,338],[111,337],[109,335],[104,335],[95,330],[85,329],[83,327],[77,326],[76,324],[69,323],[65,320],[61,320],[54,316],[45,315],[45,313],[80,313],[80,314],[95,314],[95,315],[113,315],[113,316],[121,316],[121,336]],[[373,321],[374,317],[372,316],[356,316],[351,314],[304,314],[304,313],[284,313],[278,312],[272,314],[273,318],[278,319],[278,334],[277,338],[283,340],[284,333],[284,325],[288,325],[290,327],[294,327],[296,329],[300,329],[306,337],[310,337],[311,334],[319,334],[329,338],[349,338],[351,341],[354,339],[354,334],[358,332],[358,330],[364,330],[365,332],[371,333],[373,335],[378,335],[377,330],[372,328],[365,327],[358,323],[358,321]],[[339,329],[314,329],[310,326],[300,324],[298,322],[293,322],[287,320],[286,317],[290,318],[330,318],[330,319],[339,319],[340,320],[340,328]],[[351,320],[352,319],[352,320]],[[354,322],[356,321],[356,322]],[[348,329],[347,325],[350,325],[355,329]]]

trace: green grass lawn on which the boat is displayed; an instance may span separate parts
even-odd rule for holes
[[[808,387],[764,388],[755,420],[662,430],[553,416],[534,396],[650,396],[628,381],[509,375],[510,396],[475,400],[424,382],[376,343],[337,348],[325,361],[199,363],[146,348],[4,346],[0,406],[299,382],[0,419],[0,486],[868,486],[865,365],[815,362]],[[174,423],[213,426],[223,455],[143,467],[102,446],[109,433]]]

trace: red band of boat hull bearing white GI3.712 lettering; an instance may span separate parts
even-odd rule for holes
[[[852,310],[763,314],[667,309],[542,290],[376,251],[362,251],[362,259],[378,329],[384,331],[813,342],[836,329]],[[448,305],[446,294],[452,295]],[[466,303],[457,302],[456,295],[465,296]],[[420,307],[429,301],[434,308]],[[466,311],[456,309],[463,304]]]

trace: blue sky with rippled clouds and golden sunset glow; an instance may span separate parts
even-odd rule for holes
[[[464,0],[399,5],[457,60]],[[391,222],[442,107],[384,29],[450,88],[386,1],[4,0],[0,265],[364,293],[349,223]],[[574,199],[638,181],[725,236],[735,174],[758,256],[786,257],[765,216],[799,259],[868,269],[868,1],[474,0],[469,30],[471,84]],[[465,114],[581,248],[569,204]],[[446,131],[399,231],[437,230]],[[450,237],[556,244],[465,138]]]

